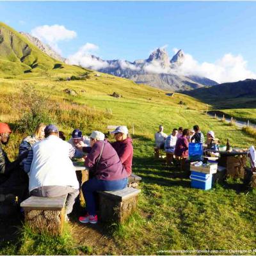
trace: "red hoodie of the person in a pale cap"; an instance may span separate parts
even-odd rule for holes
[[[121,163],[123,164],[127,175],[130,176],[132,173],[133,156],[132,139],[127,138],[123,141],[115,141],[111,143],[111,145],[113,148],[115,148],[118,156],[120,157]]]

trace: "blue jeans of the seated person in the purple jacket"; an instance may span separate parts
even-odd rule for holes
[[[95,191],[115,191],[124,189],[127,186],[128,179],[122,180],[99,180],[96,178],[87,180],[82,186],[83,196],[86,200],[86,211],[90,215],[95,215]]]

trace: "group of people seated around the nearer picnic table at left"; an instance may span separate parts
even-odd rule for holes
[[[132,173],[133,147],[126,126],[116,127],[112,132],[115,142],[109,143],[100,131],[93,131],[88,138],[79,129],[72,132],[67,142],[56,125],[38,124],[35,133],[22,140],[19,156],[12,163],[1,146],[8,143],[11,132],[8,124],[0,123],[0,193],[12,193],[15,186],[27,180],[29,195],[68,195],[68,220],[79,195],[79,182],[71,159],[84,157],[90,179],[81,188],[86,199],[86,214],[79,217],[79,221],[97,223],[93,193],[127,186],[127,178]]]

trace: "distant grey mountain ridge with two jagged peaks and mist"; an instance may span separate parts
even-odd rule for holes
[[[149,84],[164,90],[193,90],[204,86],[212,86],[216,83],[211,79],[200,76],[181,76],[177,68],[184,61],[184,53],[179,50],[170,60],[168,53],[161,48],[156,49],[146,60],[136,60],[134,62],[124,60],[102,60],[99,57],[90,55],[92,62],[97,61],[102,67],[98,71],[114,76],[131,79],[138,84]],[[72,60],[71,60],[72,63]],[[74,62],[75,63],[75,62]],[[93,65],[83,67],[95,69]]]

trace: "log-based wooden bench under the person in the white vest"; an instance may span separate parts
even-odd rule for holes
[[[25,222],[33,230],[49,232],[56,236],[63,232],[67,195],[58,197],[30,196],[20,207],[25,212]]]

